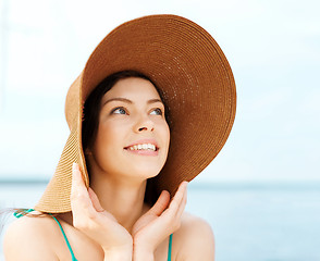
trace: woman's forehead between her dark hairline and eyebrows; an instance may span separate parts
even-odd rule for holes
[[[120,79],[102,98],[102,102],[111,98],[127,98],[132,100],[160,99],[160,96],[151,82],[130,77]]]

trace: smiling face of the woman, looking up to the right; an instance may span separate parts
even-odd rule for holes
[[[101,100],[89,157],[91,174],[148,178],[163,167],[170,141],[164,105],[147,79],[120,79]]]

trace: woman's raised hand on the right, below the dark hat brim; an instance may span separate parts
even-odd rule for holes
[[[186,195],[187,182],[180,185],[171,202],[169,192],[165,190],[161,192],[155,206],[133,226],[135,252],[149,253],[150,257],[161,241],[179,229],[186,204]],[[169,202],[170,206],[167,209]]]

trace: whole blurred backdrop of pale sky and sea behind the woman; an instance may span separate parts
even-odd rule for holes
[[[316,0],[0,0],[0,209],[30,208],[44,191],[69,135],[67,88],[99,41],[172,13],[213,36],[237,85],[231,136],[189,185],[187,210],[211,224],[216,260],[320,260],[319,10]],[[3,231],[11,220],[0,216]]]

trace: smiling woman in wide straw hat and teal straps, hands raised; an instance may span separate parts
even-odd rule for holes
[[[33,217],[9,227],[7,260],[214,259],[210,226],[184,212],[187,182],[235,115],[231,69],[206,30],[175,15],[119,26],[71,86],[65,113],[60,162]]]

